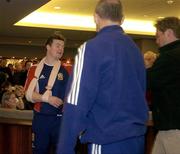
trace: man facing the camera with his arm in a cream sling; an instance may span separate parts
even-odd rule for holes
[[[48,154],[56,147],[62,119],[62,104],[68,73],[59,60],[64,53],[65,39],[52,35],[46,41],[46,56],[28,72],[26,98],[35,103],[32,129],[33,154]]]

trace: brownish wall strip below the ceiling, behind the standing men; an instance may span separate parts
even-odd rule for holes
[[[134,39],[142,53],[151,50],[157,52],[158,48],[155,43],[155,39]],[[11,45],[0,44],[0,56],[2,57],[28,57],[28,58],[42,58],[45,55],[46,50],[40,45]],[[65,48],[64,58],[74,58],[77,49],[74,47]]]

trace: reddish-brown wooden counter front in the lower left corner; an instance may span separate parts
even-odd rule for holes
[[[0,124],[0,154],[32,154],[31,126]]]

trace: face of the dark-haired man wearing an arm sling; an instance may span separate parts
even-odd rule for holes
[[[47,45],[47,56],[54,59],[60,59],[64,53],[64,41],[53,40],[51,45]]]

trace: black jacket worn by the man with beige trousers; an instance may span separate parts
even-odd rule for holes
[[[147,76],[154,125],[158,130],[180,129],[180,40],[159,51],[160,56]]]

